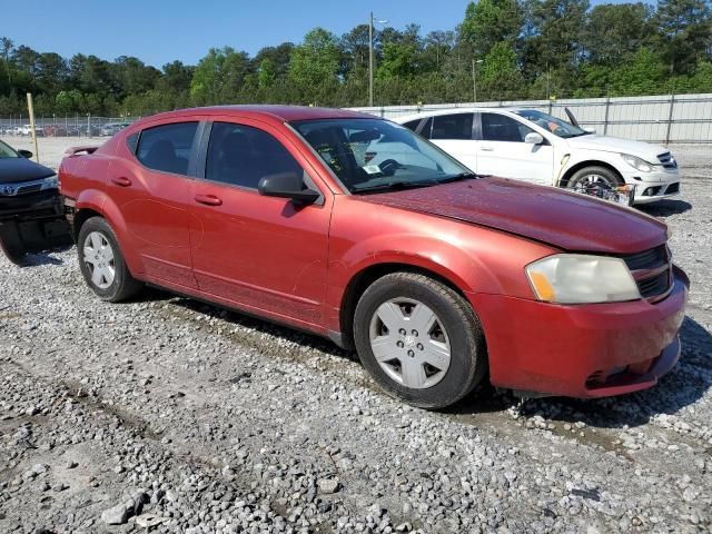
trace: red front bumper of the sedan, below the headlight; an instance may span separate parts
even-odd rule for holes
[[[689,285],[675,267],[672,291],[654,304],[468,297],[484,328],[493,385],[595,398],[651,387],[675,365]]]

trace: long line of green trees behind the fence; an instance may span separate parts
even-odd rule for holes
[[[0,116],[138,117],[214,103],[365,106],[368,24],[337,37],[323,28],[254,57],[211,48],[197,66],[158,70],[121,56],[40,53],[0,38]],[[378,105],[477,99],[712,92],[710,0],[596,4],[589,0],[477,0],[454,30],[375,28]]]

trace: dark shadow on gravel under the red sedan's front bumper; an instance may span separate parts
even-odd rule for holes
[[[712,386],[712,334],[690,317],[680,330],[678,365],[650,389],[596,400],[551,397],[527,400],[522,415],[620,428],[644,425],[656,415],[672,415],[700,399]]]

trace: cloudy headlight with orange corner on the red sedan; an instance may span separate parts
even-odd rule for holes
[[[557,254],[527,265],[525,270],[534,294],[546,303],[617,303],[641,298],[621,258]]]

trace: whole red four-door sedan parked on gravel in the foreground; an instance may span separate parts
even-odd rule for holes
[[[654,385],[689,281],[664,224],[474,176],[372,116],[215,107],[149,117],[59,171],[79,265],[355,348],[389,394],[439,408],[485,377],[525,395]]]

